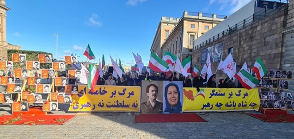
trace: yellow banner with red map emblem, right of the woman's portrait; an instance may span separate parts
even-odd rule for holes
[[[183,89],[183,111],[258,111],[258,89],[241,88],[196,88]]]

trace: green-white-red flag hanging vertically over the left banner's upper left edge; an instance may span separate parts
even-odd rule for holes
[[[92,92],[95,92],[95,85],[98,79],[99,72],[97,72],[96,68],[92,64],[90,64],[88,89],[91,89]]]

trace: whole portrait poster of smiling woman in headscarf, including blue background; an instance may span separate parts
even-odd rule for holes
[[[183,103],[183,90],[179,88],[183,88],[183,83],[179,81],[169,82],[165,81],[163,84],[164,88],[164,105],[163,105],[163,113],[182,113],[182,103]]]

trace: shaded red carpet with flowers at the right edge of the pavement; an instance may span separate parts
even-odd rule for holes
[[[254,118],[269,123],[292,123],[294,122],[294,114],[249,114]]]

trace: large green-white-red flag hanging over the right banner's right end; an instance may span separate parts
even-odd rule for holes
[[[246,89],[252,89],[259,83],[257,79],[255,79],[250,73],[245,71],[244,69],[234,75],[236,79],[242,84],[242,86]]]

